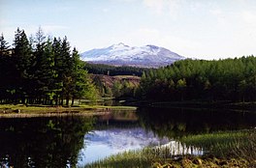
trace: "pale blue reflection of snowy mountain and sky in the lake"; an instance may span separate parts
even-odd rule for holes
[[[94,130],[85,135],[86,149],[80,152],[80,155],[83,156],[79,164],[95,161],[110,154],[167,144],[168,142],[169,139],[159,139],[152,131],[145,132],[141,127]],[[95,150],[95,148],[100,149]]]

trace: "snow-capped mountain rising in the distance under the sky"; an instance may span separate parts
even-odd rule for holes
[[[155,45],[129,46],[122,42],[107,48],[92,49],[80,54],[81,60],[95,64],[158,68],[184,57]]]

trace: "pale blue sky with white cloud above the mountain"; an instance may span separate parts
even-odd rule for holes
[[[0,0],[0,33],[68,37],[80,52],[124,42],[200,59],[256,55],[255,0]]]

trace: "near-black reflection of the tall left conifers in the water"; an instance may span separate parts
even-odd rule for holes
[[[94,118],[0,119],[0,167],[76,167]]]

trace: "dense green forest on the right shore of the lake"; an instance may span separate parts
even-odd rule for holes
[[[144,72],[140,92],[154,100],[256,100],[256,58],[182,60]]]

